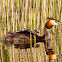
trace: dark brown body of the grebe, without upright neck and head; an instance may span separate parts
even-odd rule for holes
[[[30,33],[32,36],[32,46],[34,45],[34,36],[36,37],[36,43],[37,42],[45,43],[45,35],[41,37],[29,30],[19,31],[15,33],[8,32],[5,37],[5,43],[7,45],[11,45],[11,44],[18,45],[20,46],[20,48],[29,48],[30,47]]]

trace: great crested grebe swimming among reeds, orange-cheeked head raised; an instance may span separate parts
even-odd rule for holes
[[[48,21],[45,24],[44,35],[38,36],[35,32],[30,30],[23,29],[19,32],[8,32],[5,36],[5,43],[7,45],[14,44],[20,46],[20,48],[29,48],[30,47],[30,34],[32,35],[32,46],[34,45],[34,35],[36,36],[36,43],[43,42],[45,45],[45,49],[51,48],[51,36],[49,29],[54,25],[62,24],[58,22],[56,19],[48,18]],[[46,46],[47,40],[47,46]]]

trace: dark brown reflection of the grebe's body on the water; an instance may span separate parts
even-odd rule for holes
[[[5,42],[5,45],[9,48],[10,46],[14,45],[15,48],[20,49],[27,49],[30,48],[30,44],[15,44],[13,42]],[[34,47],[34,44],[32,44],[32,47]],[[39,44],[36,44],[36,48],[39,47]]]

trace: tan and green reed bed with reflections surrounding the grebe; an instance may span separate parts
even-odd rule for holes
[[[7,32],[23,28],[36,29],[42,36],[47,17],[62,22],[62,0],[0,0],[0,41]],[[50,32],[52,49],[56,54],[62,54],[62,26],[54,26]],[[43,43],[25,52],[14,48],[14,45],[8,49],[4,42],[0,46],[0,62],[50,62]],[[62,59],[53,62],[62,62]]]

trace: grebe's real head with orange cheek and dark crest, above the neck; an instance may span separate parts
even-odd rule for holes
[[[53,18],[47,18],[48,19],[48,22],[45,24],[45,27],[47,29],[50,29],[52,26],[54,25],[60,25],[62,23],[60,23],[58,20],[56,19],[53,19]]]

